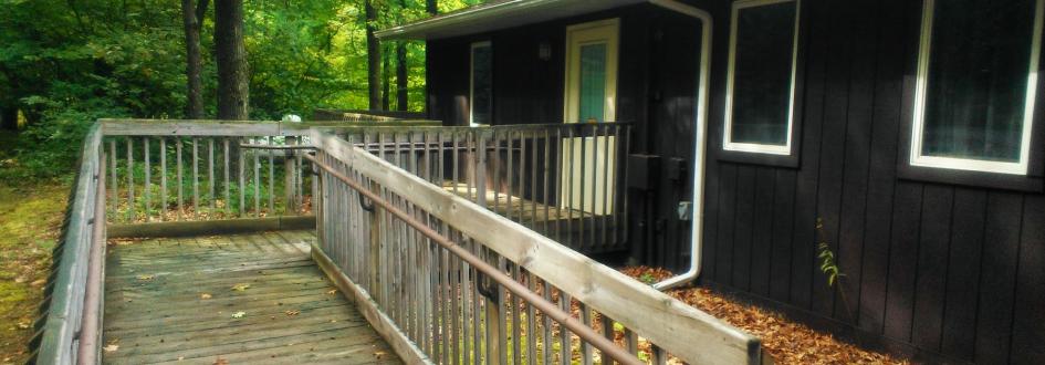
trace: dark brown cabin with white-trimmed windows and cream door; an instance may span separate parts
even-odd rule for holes
[[[1042,0],[514,0],[378,35],[427,42],[445,125],[629,123],[621,257],[696,244],[700,284],[866,345],[1041,364],[1042,32]]]

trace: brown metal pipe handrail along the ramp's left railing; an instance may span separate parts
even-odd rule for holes
[[[105,154],[98,161],[98,171],[95,175],[97,196],[94,202],[93,229],[91,232],[91,249],[87,260],[87,280],[84,288],[83,319],[80,327],[80,347],[77,348],[77,364],[97,364],[98,340],[102,322],[102,280],[104,278],[103,263],[105,262]]]

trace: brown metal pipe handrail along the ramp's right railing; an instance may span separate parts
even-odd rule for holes
[[[635,357],[634,355],[629,354],[624,348],[617,347],[613,343],[612,340],[603,337],[600,334],[596,333],[595,330],[593,330],[592,327],[584,325],[583,323],[581,323],[579,321],[571,316],[569,313],[561,310],[555,303],[552,303],[551,301],[545,300],[543,296],[534,292],[531,292],[530,289],[527,289],[522,283],[514,281],[512,278],[501,272],[499,269],[483,261],[479,257],[472,254],[467,249],[458,246],[449,238],[440,234],[436,230],[428,227],[426,223],[410,217],[410,215],[395,207],[394,205],[391,205],[390,202],[388,202],[387,200],[385,200],[377,194],[372,192],[367,187],[364,187],[363,185],[353,180],[352,178],[345,175],[342,175],[341,173],[327,166],[326,164],[321,163],[318,159],[316,159],[312,155],[304,155],[304,157],[305,159],[313,163],[315,166],[318,166],[326,173],[336,177],[338,180],[342,180],[343,182],[352,187],[352,189],[366,196],[368,199],[370,199],[370,201],[380,206],[382,208],[390,212],[396,218],[399,218],[399,220],[406,222],[408,226],[416,229],[421,234],[425,234],[426,237],[431,239],[433,242],[438,243],[439,246],[443,247],[448,251],[452,252],[454,255],[461,258],[462,260],[468,262],[470,265],[476,268],[476,270],[482,272],[490,279],[493,279],[500,285],[504,286],[513,294],[519,295],[527,303],[536,306],[537,310],[540,310],[541,312],[544,312],[546,315],[548,315],[550,317],[552,317],[553,320],[555,320],[556,322],[558,322],[566,328],[568,328],[571,332],[575,333],[578,337],[581,337],[581,340],[591,343],[593,346],[602,351],[603,354],[605,354],[609,358],[613,358],[615,362],[618,362],[620,364],[628,364],[628,365],[645,364],[644,362],[639,361],[638,357]]]

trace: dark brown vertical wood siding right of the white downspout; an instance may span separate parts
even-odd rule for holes
[[[1045,197],[898,174],[920,2],[802,7],[797,168],[719,157],[727,58],[714,56],[702,281],[906,353],[1045,361]],[[715,15],[720,51],[728,15]],[[845,300],[819,272],[817,218]]]

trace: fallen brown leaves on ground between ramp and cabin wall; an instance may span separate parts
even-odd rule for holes
[[[663,269],[633,267],[625,274],[646,283],[671,277]],[[762,338],[762,346],[776,364],[908,364],[902,358],[877,353],[839,341],[829,333],[814,331],[784,315],[743,303],[707,288],[683,288],[667,292],[687,304],[707,312]]]

